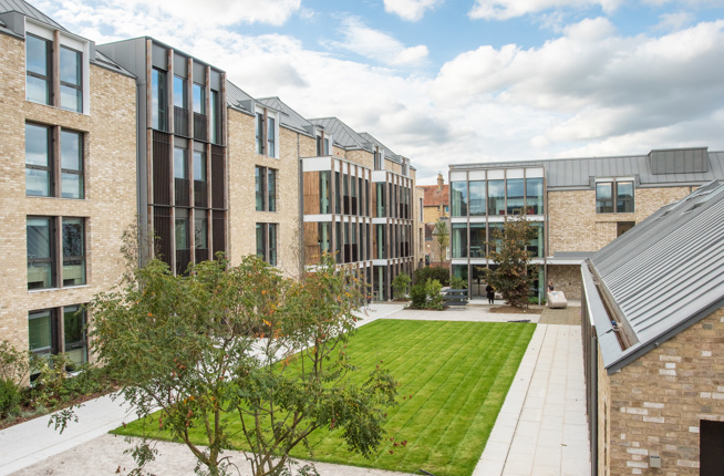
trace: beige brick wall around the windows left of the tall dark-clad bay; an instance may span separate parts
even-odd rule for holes
[[[23,41],[0,34],[0,337],[28,349],[30,311],[89,302],[124,270],[121,236],[136,216],[136,83],[91,64],[87,114],[63,111],[25,101]],[[25,196],[25,122],[83,133],[84,199]],[[84,218],[85,286],[28,290],[28,216]]]

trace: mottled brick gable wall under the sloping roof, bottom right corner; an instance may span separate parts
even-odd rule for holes
[[[700,421],[724,422],[724,309],[619,372],[599,369],[599,474],[697,475]]]

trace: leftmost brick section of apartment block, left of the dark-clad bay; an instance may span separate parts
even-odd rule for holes
[[[0,0],[0,337],[82,363],[80,307],[135,221],[136,80],[22,1]]]

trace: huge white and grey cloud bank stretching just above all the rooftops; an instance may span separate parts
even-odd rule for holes
[[[306,117],[338,116],[411,157],[422,183],[448,163],[724,149],[724,20],[625,37],[610,20],[586,19],[536,48],[483,45],[425,76],[391,68],[428,61],[425,46],[359,21],[335,46],[374,61],[141,7],[62,1],[39,8],[99,43],[149,34],[257,97],[278,95]]]

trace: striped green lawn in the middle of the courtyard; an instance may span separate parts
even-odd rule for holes
[[[358,374],[366,375],[365,369],[382,360],[402,383],[400,404],[389,412],[389,434],[380,452],[364,459],[349,453],[335,432],[318,431],[310,437],[311,459],[408,473],[425,469],[438,476],[470,475],[535,328],[402,320],[364,325],[348,346],[352,362],[362,368]],[[139,422],[114,431],[142,432]],[[393,447],[391,437],[406,439],[407,445]],[[241,445],[241,437],[234,443]],[[294,456],[310,459],[301,446]]]

